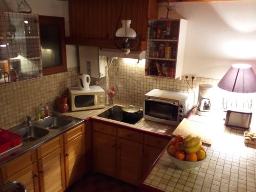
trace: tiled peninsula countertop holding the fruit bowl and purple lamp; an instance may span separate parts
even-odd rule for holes
[[[164,149],[143,178],[142,191],[256,191],[256,150],[255,145],[244,144],[244,131],[223,125],[218,112],[189,119],[212,126],[212,144],[204,145],[206,160],[193,170],[181,170]]]

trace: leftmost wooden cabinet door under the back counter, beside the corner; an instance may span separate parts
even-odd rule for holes
[[[116,177],[116,137],[93,133],[93,166],[102,174]]]

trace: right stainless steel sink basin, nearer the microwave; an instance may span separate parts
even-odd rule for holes
[[[37,125],[45,129],[60,129],[61,127],[66,126],[71,122],[72,120],[67,118],[50,116],[37,122]]]

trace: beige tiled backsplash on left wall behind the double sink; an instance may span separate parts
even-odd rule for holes
[[[0,87],[0,127],[22,123],[27,115],[37,117],[40,103],[48,105],[52,111],[56,97],[77,85],[77,75],[77,68],[70,68],[65,73]]]

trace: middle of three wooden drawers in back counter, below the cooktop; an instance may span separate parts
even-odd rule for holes
[[[139,132],[118,128],[117,135],[118,137],[121,137],[127,140],[143,143],[143,134]]]

